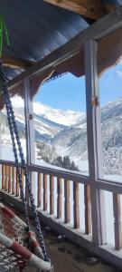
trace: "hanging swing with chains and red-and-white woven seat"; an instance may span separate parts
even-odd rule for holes
[[[5,19],[0,16],[0,57],[2,57],[3,43],[9,43],[8,31],[5,25]],[[7,88],[7,79],[3,70],[3,64],[0,62],[0,95],[3,95],[5,101],[5,109],[7,114],[8,126],[13,143],[14,160],[16,167],[17,179],[20,186],[20,194],[23,201],[23,208],[25,214],[25,222],[14,215],[14,212],[6,208],[0,203],[0,269],[6,271],[19,267],[23,269],[26,265],[39,268],[40,271],[52,271],[52,265],[46,253],[46,248],[42,236],[42,228],[40,220],[37,215],[34,204],[32,186],[28,177],[28,172],[23,158],[23,150],[21,141],[15,121],[14,110],[10,100],[10,94]],[[28,189],[29,199],[35,228],[37,233],[37,240],[35,234],[31,231],[27,202],[23,191],[22,173],[19,166],[18,152],[21,159],[23,174],[25,177],[25,187]]]

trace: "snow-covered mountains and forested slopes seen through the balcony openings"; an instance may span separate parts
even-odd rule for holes
[[[23,100],[14,97],[12,102],[23,138]],[[81,161],[88,161],[85,112],[61,111],[33,102],[33,115],[38,156],[52,163],[56,157],[68,155],[81,170]],[[0,113],[0,123],[2,138],[7,138],[5,110]],[[105,173],[122,173],[122,98],[101,108],[101,139]]]

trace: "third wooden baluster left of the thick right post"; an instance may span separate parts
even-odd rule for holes
[[[64,180],[64,221],[70,222],[70,180]]]

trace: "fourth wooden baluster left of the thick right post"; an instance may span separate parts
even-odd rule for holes
[[[57,178],[57,219],[62,216],[62,180]]]

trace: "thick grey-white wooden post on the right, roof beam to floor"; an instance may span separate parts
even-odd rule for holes
[[[85,44],[85,71],[92,238],[95,244],[102,245],[107,242],[105,199],[104,191],[95,188],[103,176],[97,52],[97,42],[89,40]]]

